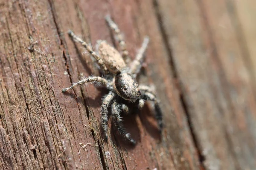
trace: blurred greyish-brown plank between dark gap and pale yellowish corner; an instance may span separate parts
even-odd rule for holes
[[[233,2],[157,2],[205,167],[253,169],[256,103]]]

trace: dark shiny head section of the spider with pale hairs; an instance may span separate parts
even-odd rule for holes
[[[135,102],[141,95],[138,83],[127,73],[117,74],[113,84],[116,93],[125,100]]]

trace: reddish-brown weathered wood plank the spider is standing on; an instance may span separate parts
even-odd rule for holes
[[[152,3],[20,0],[0,4],[0,160],[5,169],[200,167]],[[111,140],[103,142],[99,108],[106,91],[90,85],[61,93],[61,88],[81,76],[99,74],[67,30],[93,45],[98,39],[112,43],[106,14],[119,24],[132,57],[143,36],[151,38],[148,66],[140,78],[145,84],[154,82],[162,101],[165,128],[161,140],[149,107],[140,116],[125,119],[138,141],[135,147],[123,143],[112,129]]]

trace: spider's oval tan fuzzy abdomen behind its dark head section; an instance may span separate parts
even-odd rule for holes
[[[99,40],[97,42],[97,51],[112,74],[117,74],[126,67],[121,54],[106,41]]]

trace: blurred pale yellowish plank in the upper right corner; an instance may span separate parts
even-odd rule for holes
[[[241,53],[244,63],[247,65],[250,73],[250,79],[253,81],[253,89],[256,89],[256,24],[254,18],[256,17],[256,2],[254,0],[247,0],[241,2],[234,0],[232,16],[236,18],[233,20],[233,25],[236,27],[236,34],[238,37]]]

